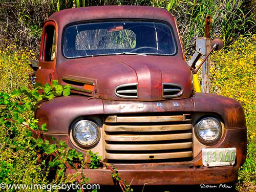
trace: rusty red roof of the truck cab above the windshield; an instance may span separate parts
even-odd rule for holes
[[[97,6],[66,9],[52,14],[48,20],[54,20],[58,28],[61,28],[73,22],[115,18],[156,19],[174,24],[174,17],[167,10],[147,6]]]

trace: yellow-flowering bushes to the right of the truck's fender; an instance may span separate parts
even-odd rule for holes
[[[256,190],[256,35],[240,36],[211,56],[211,92],[243,105],[247,123],[247,158],[239,172],[238,189]]]

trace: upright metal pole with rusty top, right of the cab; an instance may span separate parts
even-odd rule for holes
[[[208,55],[210,52],[210,22],[211,17],[210,15],[207,15],[205,18],[205,54]],[[203,93],[209,93],[209,68],[210,68],[210,57],[206,59],[206,61],[203,63],[203,69],[202,69],[202,92]]]

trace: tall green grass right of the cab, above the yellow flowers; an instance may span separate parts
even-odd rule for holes
[[[255,12],[253,12],[255,5],[254,8],[248,7],[249,2],[246,4],[243,0],[170,2],[172,3],[167,7],[166,4],[161,7],[169,8],[169,11],[176,16],[187,56],[193,53],[196,38],[204,36],[207,14],[212,17],[211,38],[221,36],[225,45],[230,44],[231,37],[236,39],[240,34],[248,34],[255,27]]]

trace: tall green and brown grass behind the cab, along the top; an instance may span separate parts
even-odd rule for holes
[[[19,39],[19,48],[29,47],[38,55],[44,21],[58,10],[99,5],[140,5],[167,9],[176,16],[186,55],[193,53],[195,40],[204,35],[205,17],[212,16],[212,38],[222,35],[225,44],[231,37],[255,32],[255,0],[1,0],[0,49],[3,39]],[[2,39],[2,40],[1,40]]]

